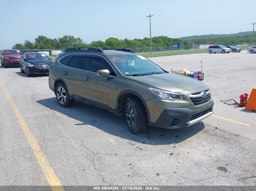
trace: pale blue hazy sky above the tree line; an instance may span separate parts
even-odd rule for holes
[[[252,31],[255,5],[251,0],[1,0],[0,48],[33,42],[38,35],[73,35],[85,43],[143,39],[150,37],[149,14],[152,37]]]

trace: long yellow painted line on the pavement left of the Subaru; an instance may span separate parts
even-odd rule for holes
[[[38,145],[37,141],[35,140],[35,137],[33,136],[32,132],[30,131],[30,129],[28,128],[27,123],[25,122],[24,118],[22,117],[21,113],[19,112],[16,104],[14,103],[14,101],[12,100],[11,96],[9,95],[7,89],[5,88],[5,85],[3,84],[3,82],[0,80],[0,84],[5,92],[5,95],[12,107],[13,112],[15,113],[15,116],[18,119],[19,124],[22,127],[22,130],[24,132],[24,134],[26,135],[29,145],[32,148],[32,151],[35,154],[35,157],[40,165],[40,167],[42,168],[45,177],[49,183],[49,185],[51,186],[53,191],[64,191],[58,177],[56,176],[55,172],[53,171],[51,165],[49,164],[49,162],[47,161],[47,159],[45,158],[45,155],[43,153],[43,151],[41,150],[40,146]]]

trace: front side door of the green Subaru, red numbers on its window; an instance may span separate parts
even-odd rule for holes
[[[97,71],[101,69],[108,69],[111,77],[98,76]],[[115,109],[116,95],[119,91],[115,88],[117,80],[117,73],[104,57],[91,56],[84,75],[85,98],[104,107]]]

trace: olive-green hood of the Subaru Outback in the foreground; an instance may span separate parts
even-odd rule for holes
[[[187,91],[206,86],[198,79],[171,72],[145,76],[128,76],[128,78],[152,88],[174,92]]]

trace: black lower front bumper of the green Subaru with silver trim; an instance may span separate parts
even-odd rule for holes
[[[188,127],[209,117],[213,113],[213,105],[213,100],[211,100],[208,106],[198,110],[191,110],[189,108],[168,108],[163,110],[156,122],[148,122],[148,125],[163,129]]]

